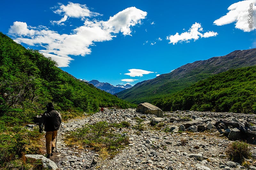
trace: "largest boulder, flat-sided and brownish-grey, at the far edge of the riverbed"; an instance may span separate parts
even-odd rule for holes
[[[136,108],[137,113],[156,115],[157,117],[164,117],[163,111],[150,103],[140,103]]]

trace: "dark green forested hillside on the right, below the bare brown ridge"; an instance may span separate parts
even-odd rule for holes
[[[256,113],[256,66],[216,74],[153,103],[165,111]]]

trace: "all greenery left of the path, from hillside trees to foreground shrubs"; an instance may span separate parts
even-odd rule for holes
[[[26,169],[29,160],[23,155],[40,154],[37,142],[43,135],[24,125],[33,123],[50,101],[64,120],[99,111],[100,106],[136,106],[76,79],[51,58],[0,32],[0,168]]]

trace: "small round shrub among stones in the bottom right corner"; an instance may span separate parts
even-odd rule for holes
[[[226,148],[226,155],[235,162],[243,162],[250,157],[249,145],[245,142],[235,141]]]

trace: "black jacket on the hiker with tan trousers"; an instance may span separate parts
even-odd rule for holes
[[[42,115],[40,122],[39,122],[39,128],[43,129],[46,132],[59,130],[61,124],[61,115],[56,110],[47,110]]]

